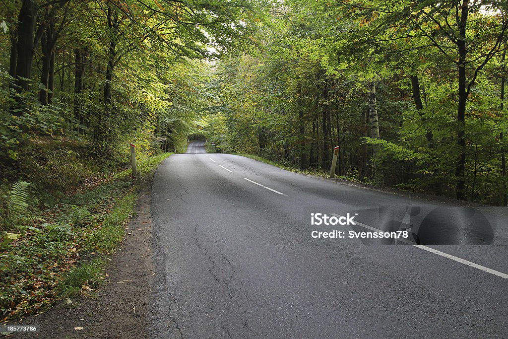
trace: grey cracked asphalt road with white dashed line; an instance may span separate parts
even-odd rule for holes
[[[378,229],[382,206],[442,207],[191,143],[153,180],[152,337],[508,337],[506,246],[311,236],[312,210],[356,211]],[[500,239],[503,225],[501,215]]]

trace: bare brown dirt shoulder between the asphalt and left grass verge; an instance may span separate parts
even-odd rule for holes
[[[19,324],[39,325],[38,333],[17,333],[13,338],[143,338],[148,333],[151,258],[151,180],[139,183],[136,216],[125,225],[126,236],[106,266],[108,283],[99,291],[57,302],[45,313]]]

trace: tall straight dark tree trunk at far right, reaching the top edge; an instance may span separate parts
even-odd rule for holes
[[[459,51],[459,103],[457,110],[457,146],[459,148],[459,156],[455,167],[455,177],[457,178],[456,194],[457,199],[465,199],[466,197],[466,138],[465,138],[465,116],[467,101],[467,79],[466,79],[466,22],[468,15],[468,0],[463,0],[461,6],[461,17],[459,22],[459,39],[457,47]]]

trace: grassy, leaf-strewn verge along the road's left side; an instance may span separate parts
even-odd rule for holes
[[[141,156],[137,178],[130,169],[122,170],[92,188],[78,188],[0,248],[0,323],[99,288],[106,280],[105,260],[122,241],[125,222],[134,213],[140,182],[171,154]]]

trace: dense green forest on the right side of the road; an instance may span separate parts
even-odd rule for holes
[[[212,139],[301,169],[506,205],[508,4],[288,1],[221,61]]]

